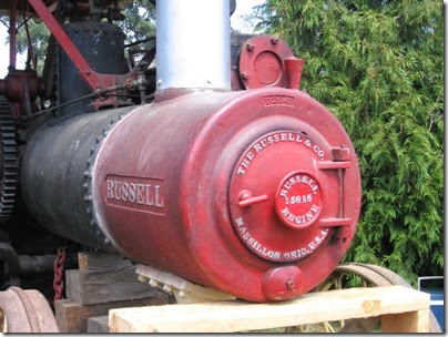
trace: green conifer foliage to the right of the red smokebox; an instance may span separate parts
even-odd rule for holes
[[[363,210],[347,261],[415,283],[444,266],[444,8],[435,0],[269,0],[263,25],[305,59],[344,124]]]

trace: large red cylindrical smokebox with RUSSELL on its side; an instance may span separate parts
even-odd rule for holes
[[[124,255],[254,302],[324,280],[360,208],[340,123],[309,95],[278,88],[135,109],[105,137],[92,186],[95,218]]]

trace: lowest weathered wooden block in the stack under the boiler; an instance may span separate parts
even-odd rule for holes
[[[83,306],[70,299],[60,299],[55,303],[55,318],[61,333],[86,333],[89,317],[108,315],[109,309],[111,308],[163,305],[167,303],[167,296],[113,302],[90,306]]]

